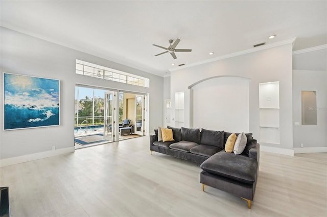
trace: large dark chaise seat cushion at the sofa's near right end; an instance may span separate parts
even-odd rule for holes
[[[256,179],[258,162],[244,155],[221,151],[205,160],[200,167],[209,173],[252,184]]]

